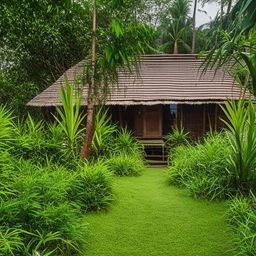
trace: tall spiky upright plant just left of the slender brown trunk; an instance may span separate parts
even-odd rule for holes
[[[62,108],[57,108],[59,117],[55,116],[63,132],[68,139],[68,146],[75,155],[78,136],[84,131],[80,128],[85,116],[81,113],[81,92],[79,88],[74,89],[66,79],[66,87],[60,90]]]

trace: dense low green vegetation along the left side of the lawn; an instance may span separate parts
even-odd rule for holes
[[[60,125],[35,122],[31,116],[16,122],[0,108],[1,255],[66,256],[83,251],[88,233],[83,214],[111,203],[113,174],[134,175],[132,170],[143,167],[136,143],[126,149],[125,140],[118,139],[125,136],[134,142],[131,135],[123,131],[115,136],[112,146],[122,152],[113,157],[118,163],[83,163]],[[80,147],[79,142],[75,145]],[[132,162],[127,156],[131,151]]]

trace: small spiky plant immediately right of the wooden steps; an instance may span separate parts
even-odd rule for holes
[[[189,132],[185,132],[184,128],[174,128],[172,132],[164,137],[165,145],[168,150],[173,150],[175,147],[187,144],[189,142]]]

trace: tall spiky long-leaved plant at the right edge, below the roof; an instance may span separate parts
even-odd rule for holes
[[[228,158],[229,173],[241,191],[256,187],[255,154],[256,154],[256,112],[254,104],[243,100],[228,102],[222,107],[231,133],[229,142],[231,154]]]

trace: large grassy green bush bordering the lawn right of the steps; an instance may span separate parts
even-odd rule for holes
[[[227,172],[229,155],[230,147],[224,133],[208,135],[194,146],[179,146],[172,152],[168,180],[188,189],[195,197],[226,198],[232,193],[232,181]]]

